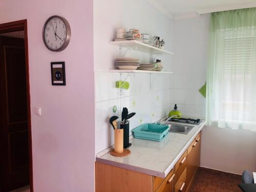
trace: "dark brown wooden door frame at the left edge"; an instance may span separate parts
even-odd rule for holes
[[[28,50],[28,27],[27,19],[17,20],[0,24],[0,34],[15,31],[24,31],[25,34],[25,56],[26,56],[26,83],[27,83],[27,105],[28,105],[28,138],[29,138],[29,177],[30,191],[34,191],[33,187],[33,155],[32,155],[32,133],[31,133],[31,106],[30,106],[30,86],[29,86],[29,50]]]

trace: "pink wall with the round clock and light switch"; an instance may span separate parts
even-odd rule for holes
[[[72,30],[59,53],[41,37],[55,14]],[[20,19],[28,20],[34,191],[94,191],[93,0],[0,1],[0,23]],[[67,86],[51,86],[51,61],[66,62]]]

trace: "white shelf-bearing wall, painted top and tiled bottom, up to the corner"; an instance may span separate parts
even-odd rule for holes
[[[140,29],[141,33],[156,34],[166,42],[165,49],[173,48],[173,21],[155,9],[147,0],[128,2],[120,0],[94,1],[94,70],[95,70],[95,153],[111,146],[114,142],[113,129],[109,117],[114,115],[112,108],[117,106],[117,116],[123,106],[129,112],[136,112],[131,119],[130,130],[144,122],[153,122],[168,114],[172,75],[136,74],[127,78],[130,90],[120,96],[115,81],[124,79],[126,74],[109,73],[115,69],[115,58],[119,57],[119,47],[110,45],[117,28]],[[137,51],[127,51],[126,56],[139,57],[148,62],[149,55]],[[172,70],[172,56],[157,57],[164,62],[164,70]],[[151,58],[152,60],[155,57]]]

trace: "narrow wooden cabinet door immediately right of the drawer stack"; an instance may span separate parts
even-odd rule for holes
[[[191,145],[188,147],[187,150],[187,176],[186,176],[186,183],[187,183],[187,187],[189,186],[194,173],[195,173],[195,164],[196,164],[196,150],[194,147],[196,140],[191,143]]]

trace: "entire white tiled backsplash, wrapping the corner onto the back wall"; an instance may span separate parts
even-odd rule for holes
[[[113,115],[121,117],[123,107],[127,107],[129,113],[136,113],[130,119],[130,132],[141,123],[155,122],[168,115],[175,103],[184,116],[204,118],[205,98],[198,91],[203,86],[203,77],[131,74],[126,79],[130,83],[130,89],[124,90],[123,95],[120,95],[120,90],[115,88],[115,82],[123,80],[126,76],[127,73],[95,72],[96,153],[114,144],[114,131],[109,118]],[[116,113],[113,112],[114,106],[117,108]]]

